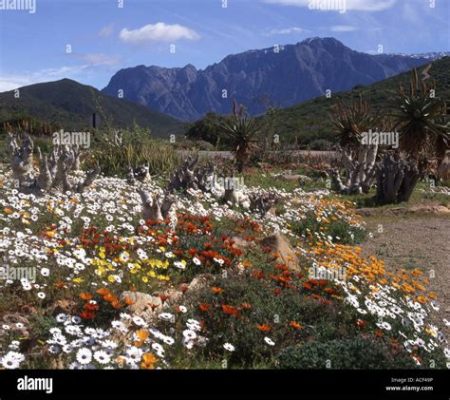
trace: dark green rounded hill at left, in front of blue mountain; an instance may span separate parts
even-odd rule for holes
[[[127,100],[107,96],[97,89],[70,79],[39,83],[20,88],[20,98],[14,91],[0,93],[0,123],[32,118],[67,131],[92,128],[92,115],[99,117],[99,127],[150,128],[156,136],[180,131],[176,119],[151,111]]]

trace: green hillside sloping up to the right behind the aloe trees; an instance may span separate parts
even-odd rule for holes
[[[450,105],[450,57],[445,57],[431,63],[429,74],[436,83],[436,97],[442,98]],[[428,64],[427,64],[428,65]],[[425,68],[419,68],[419,72]],[[386,79],[368,86],[359,85],[353,90],[333,93],[330,99],[317,97],[305,103],[285,109],[272,110],[263,118],[274,134],[279,134],[281,140],[293,142],[297,137],[299,144],[305,144],[313,139],[332,137],[333,127],[329,115],[331,107],[338,99],[349,101],[362,95],[373,110],[389,110],[389,105],[395,98],[400,84],[409,85],[410,72]]]

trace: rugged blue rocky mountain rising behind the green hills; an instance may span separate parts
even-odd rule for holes
[[[251,50],[225,57],[204,70],[137,66],[118,71],[103,92],[186,121],[208,112],[227,114],[232,99],[252,115],[289,107],[325,93],[368,85],[423,65],[428,60],[354,51],[334,38]],[[223,97],[223,90],[227,97]]]

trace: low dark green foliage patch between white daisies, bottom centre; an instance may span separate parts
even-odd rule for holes
[[[267,277],[276,273],[273,265],[260,256],[258,266]],[[190,308],[196,309],[195,317],[204,321],[209,338],[202,359],[226,358],[230,367],[248,368],[261,363],[273,367],[280,350],[310,336],[323,341],[353,334],[350,308],[338,312],[331,302],[305,296],[299,288],[277,292],[279,285],[270,279],[258,279],[251,273],[237,275],[230,271],[226,277],[217,276],[213,285],[223,292],[214,294],[207,287],[191,295],[190,299]],[[206,312],[198,311],[200,304],[207,304],[210,308]],[[234,307],[239,310],[238,314],[226,315],[223,305]],[[302,328],[294,329],[290,326],[292,321],[300,323]],[[270,330],[258,329],[264,325]],[[267,344],[265,337],[275,344]],[[227,342],[235,346],[235,352],[224,350],[223,344]]]

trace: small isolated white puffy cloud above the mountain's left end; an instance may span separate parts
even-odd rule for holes
[[[158,22],[134,30],[124,28],[120,31],[119,38],[126,43],[174,42],[179,39],[196,40],[200,35],[182,25]]]

